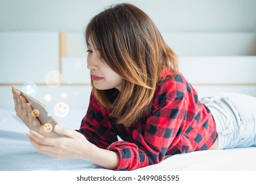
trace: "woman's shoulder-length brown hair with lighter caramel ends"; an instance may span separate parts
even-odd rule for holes
[[[122,77],[120,93],[111,101],[107,90],[93,87],[99,103],[111,111],[118,124],[126,127],[149,110],[157,83],[166,80],[161,71],[178,71],[177,57],[157,27],[138,7],[114,5],[94,16],[86,28],[90,40],[107,65]]]

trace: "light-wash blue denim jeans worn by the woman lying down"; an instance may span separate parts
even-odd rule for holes
[[[216,121],[218,149],[256,146],[256,98],[217,93],[201,99]]]

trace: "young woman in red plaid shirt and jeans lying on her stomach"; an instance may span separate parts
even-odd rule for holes
[[[92,91],[79,131],[56,126],[64,137],[45,137],[13,87],[16,114],[40,153],[134,170],[168,155],[255,145],[256,99],[222,93],[200,101],[178,72],[174,51],[138,7],[118,4],[94,16],[86,43]]]

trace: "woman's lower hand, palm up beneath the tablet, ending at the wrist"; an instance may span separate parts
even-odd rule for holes
[[[91,153],[97,149],[81,133],[66,129],[59,125],[55,126],[55,132],[64,137],[44,137],[36,131],[28,133],[28,139],[41,154],[53,158],[82,158],[91,160]]]

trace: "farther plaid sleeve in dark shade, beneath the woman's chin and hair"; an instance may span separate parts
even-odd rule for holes
[[[99,106],[91,94],[88,111],[80,126],[80,133],[97,147],[106,149],[111,143],[117,141],[116,133],[111,130],[109,124],[111,124],[111,119],[107,111]]]

